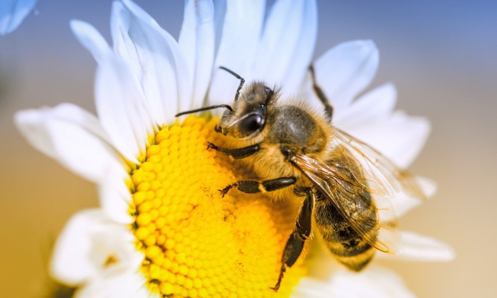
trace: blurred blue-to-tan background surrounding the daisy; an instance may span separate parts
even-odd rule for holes
[[[178,37],[181,2],[138,4]],[[12,118],[20,109],[62,102],[95,111],[95,62],[71,36],[68,21],[88,21],[108,38],[110,6],[110,1],[40,0],[18,31],[0,37],[2,297],[43,296],[51,243],[72,214],[98,206],[95,186],[30,147]],[[400,224],[447,242],[457,259],[380,262],[420,297],[495,296],[497,6],[428,1],[318,6],[316,57],[342,41],[373,39],[381,57],[373,86],[394,82],[397,108],[426,116],[433,125],[410,169],[436,180],[438,192]]]

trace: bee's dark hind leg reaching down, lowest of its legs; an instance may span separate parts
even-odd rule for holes
[[[314,195],[311,188],[306,188],[303,191],[305,192],[304,204],[302,204],[302,208],[300,209],[295,229],[292,234],[290,234],[290,237],[288,237],[285,249],[283,250],[283,255],[281,256],[280,276],[278,277],[276,285],[272,287],[274,291],[278,291],[280,288],[281,280],[286,271],[286,267],[292,267],[297,261],[304,248],[305,240],[307,240],[310,236]]]

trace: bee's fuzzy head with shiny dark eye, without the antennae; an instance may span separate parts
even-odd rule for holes
[[[224,111],[217,131],[237,139],[251,139],[257,136],[266,125],[268,112],[271,112],[278,92],[263,81],[255,81],[246,86],[239,97],[235,97],[232,111]]]

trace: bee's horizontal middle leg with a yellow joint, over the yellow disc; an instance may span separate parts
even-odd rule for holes
[[[295,177],[280,177],[262,182],[255,180],[241,180],[230,184],[219,191],[221,191],[223,197],[233,187],[236,187],[238,190],[245,193],[267,192],[293,185],[295,182],[297,182]]]

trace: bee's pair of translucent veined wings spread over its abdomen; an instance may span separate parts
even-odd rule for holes
[[[421,200],[421,187],[415,177],[344,132],[336,131],[332,146],[335,150],[328,163],[302,154],[290,160],[367,243],[380,251],[396,253],[399,233],[389,199],[405,191]],[[369,196],[360,195],[365,192]]]

